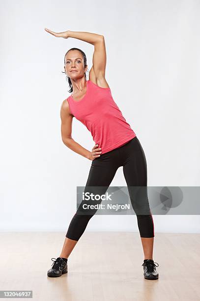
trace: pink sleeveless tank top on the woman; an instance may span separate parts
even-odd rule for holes
[[[98,87],[88,80],[85,96],[75,101],[70,95],[67,101],[71,114],[86,125],[102,154],[124,145],[136,136],[114,102],[110,88]]]

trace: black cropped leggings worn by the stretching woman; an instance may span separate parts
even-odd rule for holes
[[[132,188],[133,186],[147,186],[146,158],[136,136],[121,147],[103,153],[92,161],[84,192],[92,188],[87,186],[98,186],[95,193],[104,194],[120,166],[123,166],[131,204],[137,215],[140,236],[152,238],[154,237],[154,224],[149,208],[147,188],[142,188],[142,193],[138,193],[136,189]],[[86,201],[84,200],[82,203],[86,204]],[[88,221],[97,211],[96,209],[91,214],[91,210],[89,210],[89,214],[79,214],[79,212],[83,212],[82,203],[74,214],[66,233],[66,237],[74,241],[80,239]],[[98,203],[101,203],[101,200]],[[86,210],[84,211],[86,212]]]

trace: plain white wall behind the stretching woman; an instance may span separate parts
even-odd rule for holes
[[[59,111],[64,54],[83,49],[90,69],[93,46],[45,27],[104,35],[106,79],[143,146],[148,185],[200,185],[199,15],[198,0],[0,1],[1,231],[66,232],[91,165],[62,143]],[[72,134],[91,151],[75,119]],[[126,185],[122,167],[111,185]],[[199,233],[200,216],[154,215],[154,226]],[[135,215],[96,215],[95,230],[139,231]]]

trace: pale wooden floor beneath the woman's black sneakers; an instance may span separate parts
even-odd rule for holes
[[[85,232],[68,273],[48,277],[64,238],[64,232],[0,232],[0,290],[32,290],[35,301],[200,301],[200,234],[155,233],[158,280],[143,277],[136,232]]]

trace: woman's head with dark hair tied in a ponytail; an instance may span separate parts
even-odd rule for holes
[[[71,79],[78,79],[83,76],[86,78],[86,54],[79,48],[69,49],[64,56],[64,69],[70,86],[69,92],[71,93],[73,91]]]

